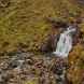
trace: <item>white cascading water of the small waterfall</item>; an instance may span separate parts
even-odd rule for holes
[[[59,41],[57,42],[56,51],[53,52],[56,56],[68,57],[69,52],[72,48],[72,32],[75,28],[72,26],[68,27],[62,33],[60,33]]]

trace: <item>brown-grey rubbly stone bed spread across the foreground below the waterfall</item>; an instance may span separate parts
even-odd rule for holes
[[[0,62],[0,84],[66,84],[64,60],[32,53],[19,53]],[[30,84],[30,83],[29,83]]]

